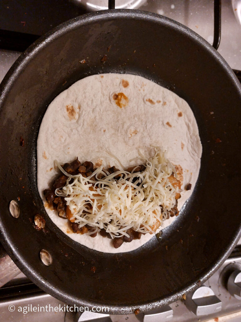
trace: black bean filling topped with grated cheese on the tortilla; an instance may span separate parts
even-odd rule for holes
[[[57,166],[61,175],[44,190],[49,204],[69,221],[75,233],[112,238],[118,248],[123,242],[155,233],[169,216],[178,215],[181,185],[165,153],[143,158],[143,164],[119,170],[115,166],[94,169],[92,162]]]

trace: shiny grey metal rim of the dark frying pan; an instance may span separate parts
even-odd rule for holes
[[[237,80],[236,75],[232,71],[232,69],[229,67],[227,62],[223,59],[223,57],[206,41],[204,40],[200,35],[189,29],[188,27],[175,22],[172,19],[169,19],[167,17],[140,11],[140,10],[132,10],[132,9],[114,9],[114,10],[103,10],[98,11],[90,14],[85,14],[82,16],[79,16],[77,18],[71,19],[63,24],[60,24],[55,29],[50,31],[49,33],[46,33],[40,39],[38,39],[35,43],[33,43],[25,52],[22,53],[22,55],[18,58],[18,60],[13,64],[11,69],[8,71],[6,76],[4,77],[4,80],[2,81],[0,85],[0,91],[2,92],[0,96],[0,106],[4,102],[5,97],[8,95],[8,92],[11,90],[11,87],[13,86],[14,79],[16,76],[19,75],[19,73],[24,69],[24,66],[28,64],[28,61],[31,60],[35,55],[38,54],[39,51],[41,51],[42,48],[44,48],[46,45],[48,45],[49,42],[54,41],[56,38],[61,36],[63,33],[66,33],[68,31],[71,31],[75,28],[79,28],[83,24],[90,24],[92,22],[97,22],[98,20],[110,20],[110,19],[138,19],[138,20],[148,20],[150,22],[158,23],[158,24],[165,24],[168,27],[171,27],[175,29],[176,31],[179,31],[180,33],[183,33],[190,38],[192,38],[193,41],[199,43],[200,45],[204,46],[205,49],[213,56],[215,57],[220,65],[225,69],[227,75],[229,76],[230,81],[233,82],[233,84],[236,86],[237,90],[239,90],[241,95],[241,85],[239,81]],[[227,245],[224,252],[219,256],[219,260],[215,262],[215,265],[207,270],[207,272],[203,273],[201,278],[199,279],[201,283],[206,281],[218,268],[221,266],[221,264],[225,261],[225,259],[228,257],[228,255],[231,253],[232,249],[236,245],[238,239],[241,236],[240,226],[237,227],[237,234],[235,238],[232,238],[232,241]],[[28,275],[29,272],[31,272],[31,267],[28,267],[27,265],[24,265],[24,260],[22,260],[22,257],[19,255],[16,255],[16,247],[14,247],[11,243],[9,244],[7,242],[8,240],[8,234],[5,231],[4,227],[1,227],[1,242],[4,245],[4,248],[8,251],[8,253],[11,255],[11,257],[14,259],[14,262],[20,267],[20,269],[24,272],[24,274]],[[34,276],[34,278],[31,276],[31,279],[36,283],[36,285],[40,285],[41,289],[44,289],[47,291],[50,295],[56,296],[58,295],[58,298],[60,298],[63,301],[66,301],[68,303],[75,304],[75,301],[71,297],[66,297],[65,294],[59,289],[55,292],[52,291],[51,284],[43,279],[39,279],[38,276]],[[160,306],[164,306],[166,304],[173,303],[174,301],[182,298],[183,294],[197,288],[198,281],[194,281],[191,285],[181,289],[178,292],[175,292],[174,294],[169,295],[168,297],[164,299],[158,299],[153,303],[153,301],[150,301],[148,303],[144,303],[140,306],[128,306],[128,305],[119,305],[117,306],[111,306],[108,305],[110,311],[109,313],[119,313],[119,314],[128,314],[133,313],[133,311],[136,308],[139,308],[141,311],[147,311],[150,309],[158,308]],[[85,302],[80,301],[80,305],[86,305]],[[88,302],[88,306],[103,306],[103,303],[97,303],[97,302]]]

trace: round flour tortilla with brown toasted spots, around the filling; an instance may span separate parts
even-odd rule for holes
[[[138,150],[152,157],[153,146],[166,150],[177,166],[183,189],[180,210],[194,189],[202,152],[197,123],[187,102],[136,75],[99,74],[74,83],[49,105],[37,141],[38,190],[50,219],[70,238],[97,251],[132,251],[156,238],[145,234],[115,249],[112,240],[100,234],[92,238],[71,232],[67,220],[49,209],[43,195],[58,173],[54,160],[64,164],[77,156],[96,166],[128,168],[139,164],[130,161],[138,158]],[[189,183],[192,189],[186,191]],[[163,228],[176,219],[166,220]]]

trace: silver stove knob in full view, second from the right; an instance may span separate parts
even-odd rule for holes
[[[185,304],[196,316],[213,314],[221,311],[222,302],[207,286],[201,286],[187,295]]]

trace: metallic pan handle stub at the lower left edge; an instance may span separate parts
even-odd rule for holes
[[[13,277],[21,273],[13,260],[0,244],[0,287],[9,282]]]

